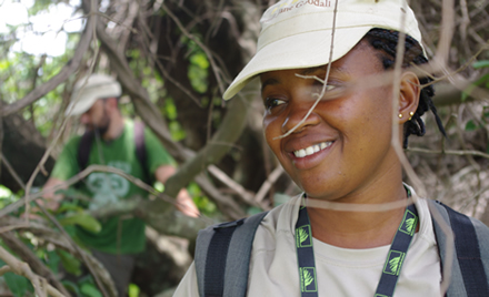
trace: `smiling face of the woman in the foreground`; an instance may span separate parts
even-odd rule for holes
[[[326,95],[289,136],[320,93],[327,66],[261,74],[265,136],[292,180],[312,198],[347,199],[400,176],[391,146],[392,86],[366,85],[382,74],[379,52],[360,42],[331,64]],[[392,175],[393,174],[393,175]]]

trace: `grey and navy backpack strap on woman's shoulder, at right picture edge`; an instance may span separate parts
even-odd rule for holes
[[[455,237],[453,243],[447,243],[447,237],[439,223],[432,221],[441,266],[447,260],[447,245],[451,245],[456,253],[447,296],[489,296],[488,278],[481,258],[479,239],[471,219],[440,202],[431,205],[436,206],[445,223],[451,227]]]

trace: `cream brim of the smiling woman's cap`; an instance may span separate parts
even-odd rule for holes
[[[319,30],[290,35],[265,45],[250,60],[223,94],[224,100],[234,96],[256,75],[275,70],[302,69],[329,63],[347,54],[372,27]]]

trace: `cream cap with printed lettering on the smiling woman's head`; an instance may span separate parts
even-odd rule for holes
[[[338,10],[335,20],[335,6]],[[347,54],[372,28],[405,32],[421,44],[406,0],[282,0],[263,13],[257,53],[223,94],[234,96],[256,75],[327,64]]]

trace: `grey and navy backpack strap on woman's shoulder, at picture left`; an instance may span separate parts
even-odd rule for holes
[[[255,233],[268,212],[199,232],[196,273],[202,297],[244,297]]]

